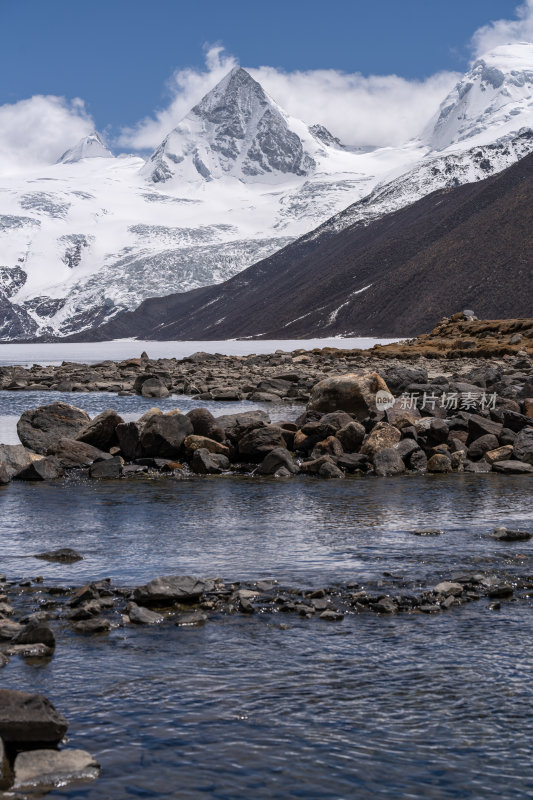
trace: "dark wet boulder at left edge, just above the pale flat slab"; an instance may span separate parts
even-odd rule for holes
[[[56,745],[68,722],[42,694],[0,689],[0,738],[6,744]]]

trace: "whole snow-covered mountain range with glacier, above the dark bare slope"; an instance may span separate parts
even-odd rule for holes
[[[146,162],[91,134],[39,174],[0,181],[0,338],[88,330],[310,231],[312,242],[504,169],[533,150],[532,94],[533,45],[496,48],[420,139],[357,149],[236,68]]]

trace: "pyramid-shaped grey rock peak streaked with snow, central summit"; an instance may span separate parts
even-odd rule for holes
[[[154,183],[277,183],[315,172],[340,142],[290,117],[241,67],[231,70],[154,151],[141,174]]]

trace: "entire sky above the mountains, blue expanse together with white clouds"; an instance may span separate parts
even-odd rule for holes
[[[294,116],[396,145],[476,51],[520,39],[533,0],[0,0],[0,169],[95,128],[146,154],[236,63]]]

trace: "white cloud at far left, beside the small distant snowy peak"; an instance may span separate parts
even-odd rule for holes
[[[0,106],[0,172],[53,164],[94,130],[83,100],[35,95]]]

